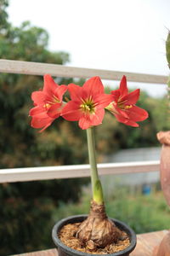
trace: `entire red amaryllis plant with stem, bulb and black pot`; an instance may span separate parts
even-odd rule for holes
[[[64,102],[66,90],[70,92],[71,100],[66,99]],[[30,111],[33,128],[41,128],[42,132],[54,119],[62,116],[69,121],[78,121],[80,128],[87,131],[93,194],[90,213],[88,216],[66,218],[54,225],[53,240],[59,248],[59,255],[128,255],[136,245],[136,236],[126,224],[108,218],[105,213],[95,156],[94,126],[101,125],[106,109],[119,122],[138,127],[137,122],[148,117],[144,109],[135,105],[139,99],[139,89],[128,93],[127,79],[123,76],[120,88],[112,90],[111,94],[107,95],[99,77],[88,79],[81,87],[76,84],[58,85],[46,74],[43,89],[33,92],[31,99],[34,102],[34,108]],[[71,240],[67,236],[69,232]],[[63,238],[64,233],[66,238]]]

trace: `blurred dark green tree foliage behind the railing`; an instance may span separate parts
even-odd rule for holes
[[[56,64],[69,61],[68,53],[48,50],[48,32],[44,29],[28,21],[20,27],[12,26],[8,22],[7,7],[8,0],[0,0],[0,58]],[[68,84],[72,79],[57,78],[57,81]],[[31,129],[28,117],[32,108],[31,92],[41,87],[42,77],[39,76],[0,74],[0,168],[88,162],[86,133],[76,122],[57,119],[41,134]],[[122,125],[106,113],[103,125],[96,129],[99,161],[119,148],[157,145],[156,131],[169,128],[166,104],[166,98],[150,98],[143,92],[139,106],[149,111],[150,119],[139,129]],[[87,181],[65,179],[0,184],[0,255],[52,247],[50,234],[55,212],[63,203],[78,201],[82,183]],[[116,217],[115,212],[114,215]]]

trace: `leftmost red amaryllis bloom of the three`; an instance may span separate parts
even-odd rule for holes
[[[31,94],[35,108],[31,108],[29,113],[32,117],[31,126],[42,128],[41,131],[44,131],[54,119],[59,117],[64,106],[62,98],[67,90],[66,85],[59,86],[48,74],[44,75],[43,79],[43,90],[34,91]]]

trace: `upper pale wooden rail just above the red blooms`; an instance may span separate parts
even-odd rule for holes
[[[144,73],[127,73],[120,71],[66,67],[56,64],[45,64],[28,61],[10,61],[0,60],[0,73],[20,73],[30,75],[43,75],[49,73],[57,77],[69,78],[91,78],[99,76],[101,79],[120,80],[123,75],[127,76],[127,80],[131,82],[166,84],[167,76],[144,74]]]

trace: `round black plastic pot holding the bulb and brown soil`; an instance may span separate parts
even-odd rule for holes
[[[72,223],[76,223],[76,222],[82,222],[85,218],[87,218],[87,215],[71,216],[69,218],[61,219],[57,224],[54,225],[54,228],[52,230],[52,238],[53,238],[55,246],[58,247],[59,256],[66,256],[66,255],[70,255],[70,256],[88,256],[88,255],[92,255],[90,253],[82,253],[82,252],[74,250],[70,247],[65,246],[65,244],[62,243],[59,240],[59,236],[58,236],[59,230],[65,224],[72,224]],[[134,231],[127,226],[127,224],[124,224],[123,222],[121,222],[121,221],[119,221],[115,218],[110,218],[110,219],[111,219],[111,221],[113,221],[116,224],[116,226],[120,230],[123,230],[127,233],[127,236],[130,239],[130,245],[125,250],[122,250],[118,253],[110,253],[108,255],[109,256],[128,256],[129,253],[131,253],[133,251],[133,249],[135,248],[135,246],[136,246],[136,235],[135,235]],[[102,254],[94,254],[94,255],[95,256],[101,256]]]

